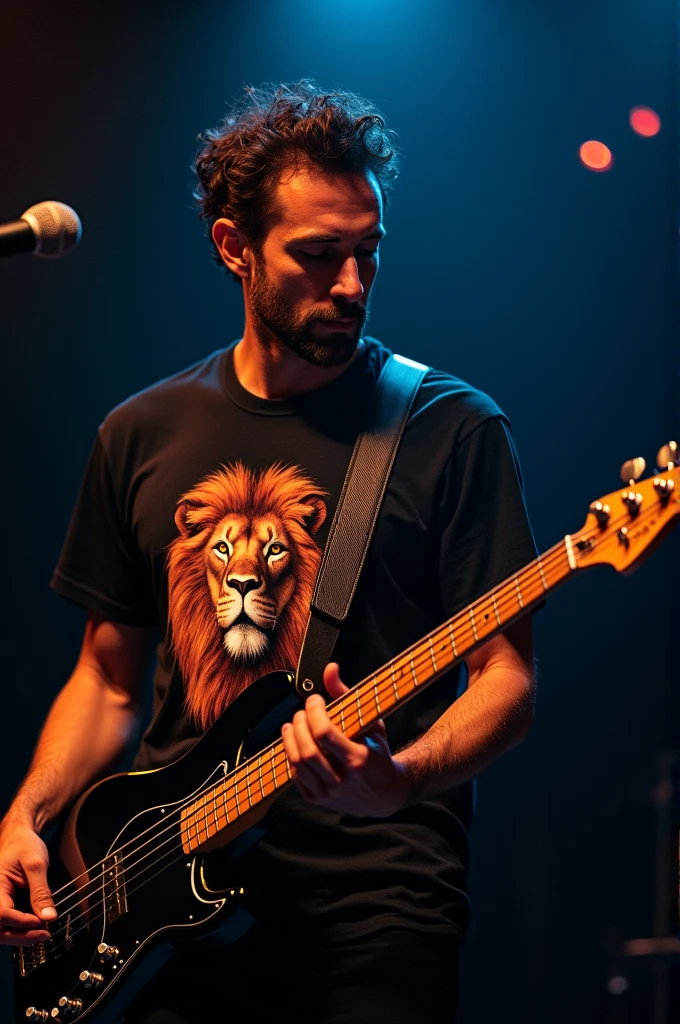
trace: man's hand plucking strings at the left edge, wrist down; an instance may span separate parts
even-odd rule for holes
[[[10,811],[0,822],[0,944],[27,946],[46,942],[44,922],[54,921],[54,900],[47,885],[47,847],[27,818]],[[16,889],[28,888],[33,913],[14,907]]]

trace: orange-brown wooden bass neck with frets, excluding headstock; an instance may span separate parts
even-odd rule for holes
[[[384,665],[328,706],[331,721],[350,738],[359,736],[423,689],[478,644],[538,604],[576,568],[570,537],[505,580],[463,611]],[[210,788],[181,814],[184,853],[278,796],[291,781],[281,740]]]

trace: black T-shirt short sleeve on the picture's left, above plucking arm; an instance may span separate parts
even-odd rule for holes
[[[126,522],[126,490],[97,434],[50,586],[114,622],[155,626],[151,573]]]

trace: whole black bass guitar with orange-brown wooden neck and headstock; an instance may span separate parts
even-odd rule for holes
[[[333,700],[331,720],[359,737],[566,580],[600,564],[632,571],[680,512],[677,444],[660,456],[664,470],[643,481],[643,460],[626,463],[625,489],[594,502],[579,532]],[[292,672],[260,679],[174,764],[113,775],[78,800],[50,849],[50,940],[14,951],[17,1021],[111,1024],[171,943],[248,929],[239,855],[291,784],[280,737],[300,706],[293,684]]]

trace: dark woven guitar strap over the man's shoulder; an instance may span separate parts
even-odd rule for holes
[[[295,683],[300,697],[325,693],[324,669],[347,618],[403,429],[427,369],[393,355],[371,396],[311,598]]]

